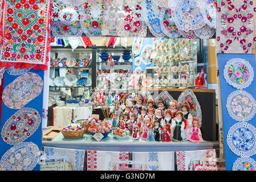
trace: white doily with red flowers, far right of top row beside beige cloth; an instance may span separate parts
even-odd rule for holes
[[[201,0],[200,9],[206,24],[216,28],[217,0]]]

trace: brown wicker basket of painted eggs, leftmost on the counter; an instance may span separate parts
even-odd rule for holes
[[[82,138],[85,130],[78,125],[70,125],[62,129],[62,135],[67,139],[78,139]]]

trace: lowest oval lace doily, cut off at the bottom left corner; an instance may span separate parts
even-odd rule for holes
[[[0,160],[2,171],[31,171],[39,160],[40,151],[32,142],[22,142],[3,154]]]

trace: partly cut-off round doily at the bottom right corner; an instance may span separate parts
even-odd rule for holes
[[[255,171],[256,162],[251,158],[238,158],[233,164],[233,171]]]

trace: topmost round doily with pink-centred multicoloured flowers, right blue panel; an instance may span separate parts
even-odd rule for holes
[[[249,61],[234,58],[227,61],[224,68],[224,78],[234,88],[244,89],[253,81],[254,71]]]

